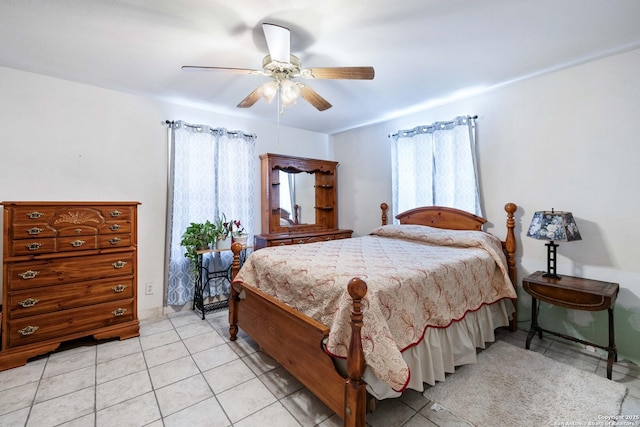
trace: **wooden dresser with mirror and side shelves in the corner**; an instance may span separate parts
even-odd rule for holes
[[[351,237],[351,230],[338,228],[337,162],[272,153],[260,160],[262,234],[255,236],[255,249]],[[295,182],[290,194],[282,190],[283,180]],[[285,198],[293,212],[282,208]]]

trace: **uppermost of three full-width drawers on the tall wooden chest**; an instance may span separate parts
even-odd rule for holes
[[[122,252],[8,264],[9,290],[132,275],[134,255]]]

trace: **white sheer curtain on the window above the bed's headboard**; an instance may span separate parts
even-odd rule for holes
[[[482,216],[473,117],[400,130],[390,138],[394,218],[418,206]]]

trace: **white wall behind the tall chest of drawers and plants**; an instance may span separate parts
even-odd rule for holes
[[[274,107],[275,108],[275,107]],[[139,201],[138,308],[161,313],[167,129],[185,120],[255,133],[256,153],[330,159],[324,134],[247,121],[0,67],[0,201]],[[256,176],[260,162],[256,162]],[[256,183],[260,227],[260,183]],[[144,285],[154,284],[153,295]]]

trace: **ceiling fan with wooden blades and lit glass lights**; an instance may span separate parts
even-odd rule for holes
[[[247,95],[238,104],[239,108],[251,107],[261,97],[271,102],[278,95],[283,106],[295,104],[298,96],[302,96],[319,111],[324,111],[331,108],[331,104],[306,84],[294,81],[294,78],[372,80],[374,77],[373,67],[302,68],[300,59],[291,54],[291,38],[288,28],[264,23],[262,30],[269,48],[269,55],[262,60],[262,70],[196,65],[184,65],[182,69],[222,70],[236,74],[263,75],[273,79],[263,83]]]

